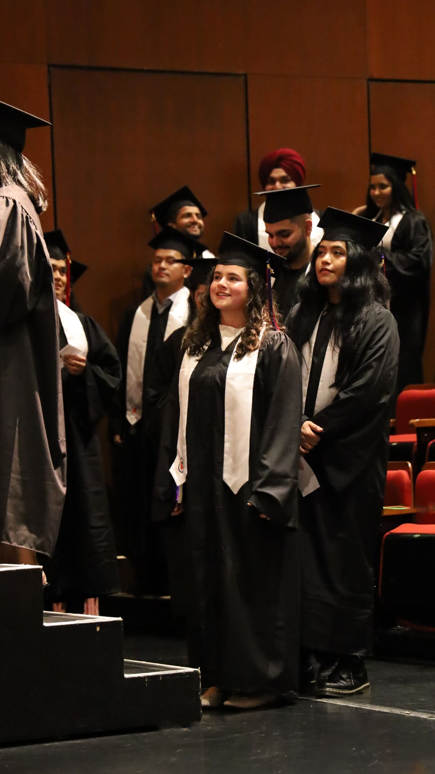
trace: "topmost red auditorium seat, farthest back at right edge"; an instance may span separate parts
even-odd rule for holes
[[[433,385],[410,385],[397,398],[396,433],[390,435],[390,459],[411,461],[416,452],[416,429],[411,420],[426,420],[435,417],[435,388]]]

